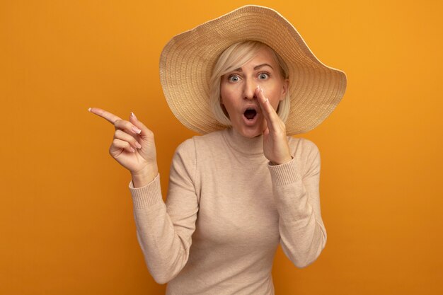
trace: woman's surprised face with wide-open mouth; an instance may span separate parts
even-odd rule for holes
[[[288,81],[270,48],[263,47],[251,61],[222,76],[220,101],[229,114],[232,127],[244,137],[263,133],[265,117],[255,96],[255,88],[263,88],[272,108],[277,109],[287,93]]]

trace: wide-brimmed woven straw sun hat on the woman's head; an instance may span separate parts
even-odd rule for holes
[[[265,43],[289,68],[288,135],[308,132],[333,112],[345,93],[345,73],[321,63],[280,13],[248,5],[176,35],[163,48],[161,86],[183,125],[200,134],[226,128],[212,115],[209,79],[219,55],[244,40]]]

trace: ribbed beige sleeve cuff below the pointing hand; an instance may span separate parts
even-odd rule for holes
[[[163,201],[161,198],[160,174],[158,174],[151,183],[144,187],[134,187],[132,180],[129,187],[132,195],[132,202],[134,202],[134,209],[142,209],[152,206],[160,200]]]

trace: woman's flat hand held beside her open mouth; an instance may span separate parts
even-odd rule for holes
[[[265,98],[262,88],[255,89],[255,95],[265,117],[263,129],[263,154],[271,165],[280,165],[292,160],[286,137],[286,126],[277,112]]]

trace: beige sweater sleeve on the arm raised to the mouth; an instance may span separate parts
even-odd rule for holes
[[[303,139],[292,161],[269,166],[272,192],[279,213],[280,243],[297,267],[318,258],[326,245],[326,229],[320,212],[320,154],[315,144]],[[297,163],[296,159],[304,159]],[[301,170],[300,167],[303,167]]]

